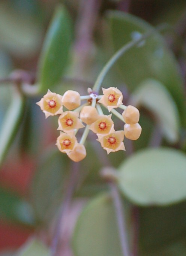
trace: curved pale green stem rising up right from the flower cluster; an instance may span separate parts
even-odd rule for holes
[[[166,25],[167,27],[167,25]],[[159,30],[165,29],[165,24],[157,27],[156,29],[151,29],[149,32],[146,34],[142,35],[141,38],[138,40],[132,40],[129,43],[125,44],[123,47],[121,47],[112,57],[111,59],[107,62],[107,64],[104,66],[104,68],[101,70],[101,72],[98,75],[98,78],[96,79],[96,82],[92,88],[93,91],[99,91],[101,84],[107,75],[107,72],[110,70],[110,68],[114,65],[114,63],[125,53],[127,50],[132,48],[133,46],[136,46],[139,44],[141,41],[145,40],[146,38],[150,37],[151,35],[154,34],[154,32],[157,32]]]

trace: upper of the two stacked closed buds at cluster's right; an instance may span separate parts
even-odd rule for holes
[[[139,122],[139,110],[131,105],[127,106],[126,110],[122,113],[125,123],[130,125]]]

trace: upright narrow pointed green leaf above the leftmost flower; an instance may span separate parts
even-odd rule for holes
[[[68,64],[72,40],[71,18],[65,6],[55,11],[44,41],[39,61],[39,91],[46,92],[60,81]]]

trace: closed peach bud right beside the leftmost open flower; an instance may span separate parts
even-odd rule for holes
[[[72,90],[66,91],[63,94],[62,103],[69,110],[79,107],[81,104],[80,93]]]

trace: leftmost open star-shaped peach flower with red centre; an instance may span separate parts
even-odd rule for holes
[[[49,89],[43,98],[37,102],[45,117],[55,116],[63,113],[62,97],[60,94],[52,93]]]

